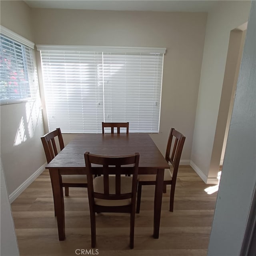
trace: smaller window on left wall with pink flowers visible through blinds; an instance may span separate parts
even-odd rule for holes
[[[35,98],[37,77],[33,61],[33,48],[34,44],[32,42],[1,26],[1,104],[22,102]]]

